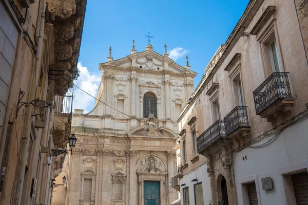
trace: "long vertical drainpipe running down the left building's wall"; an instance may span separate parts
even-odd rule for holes
[[[30,100],[33,100],[35,98],[35,88],[36,88],[36,79],[37,77],[37,70],[41,70],[41,61],[42,61],[42,50],[43,50],[43,38],[45,34],[45,10],[46,10],[46,0],[42,1],[42,13],[41,13],[41,22],[40,22],[40,31],[38,34],[38,42],[37,42],[37,48],[35,53],[35,59],[34,59],[34,74],[32,75],[32,79],[30,82]],[[27,110],[27,121],[26,121],[26,127],[24,132],[24,137],[21,139],[21,148],[20,148],[20,158],[17,160],[17,173],[16,173],[16,188],[14,193],[14,201],[13,204],[21,204],[21,196],[22,196],[22,187],[23,187],[23,181],[27,180],[24,179],[25,174],[25,166],[26,161],[28,157],[28,146],[29,146],[29,138],[30,138],[30,131],[31,131],[31,115],[32,115],[32,109],[28,108]]]

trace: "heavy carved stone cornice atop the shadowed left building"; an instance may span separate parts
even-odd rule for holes
[[[47,3],[46,19],[53,24],[55,59],[48,75],[55,81],[55,94],[64,95],[76,74],[87,1],[47,0]]]

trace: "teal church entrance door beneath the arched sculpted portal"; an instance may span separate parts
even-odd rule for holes
[[[144,181],[144,205],[160,205],[160,181]]]

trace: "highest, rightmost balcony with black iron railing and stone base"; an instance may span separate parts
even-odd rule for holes
[[[293,115],[288,72],[274,72],[254,92],[256,114],[277,125]]]

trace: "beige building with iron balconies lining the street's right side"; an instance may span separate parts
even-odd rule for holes
[[[199,181],[204,204],[308,203],[307,8],[249,1],[206,66],[178,120],[181,204]]]

